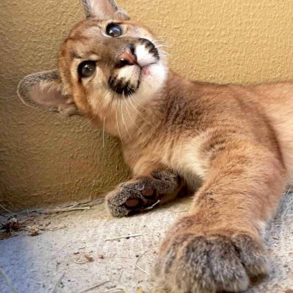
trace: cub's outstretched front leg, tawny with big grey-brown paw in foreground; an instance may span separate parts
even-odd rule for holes
[[[276,154],[246,142],[210,153],[209,175],[167,232],[154,276],[170,293],[242,292],[270,271],[262,243],[285,184]]]

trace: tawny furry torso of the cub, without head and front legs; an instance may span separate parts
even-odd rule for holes
[[[292,174],[288,163],[293,152],[286,145],[293,141],[292,91],[291,83],[220,85],[187,81],[169,73],[150,105],[141,107],[139,101],[126,105],[138,110],[136,126],[124,109],[126,125],[122,118],[118,120],[120,133],[117,126],[107,130],[122,140],[126,163],[134,175],[148,171],[148,162],[154,161],[179,172],[194,191],[197,182],[192,176],[203,180],[207,176],[208,158],[201,155],[204,145],[221,148],[226,138],[250,139],[267,147]],[[118,115],[122,116],[120,108]],[[107,119],[115,121],[115,117]],[[212,148],[218,150],[216,146]]]

